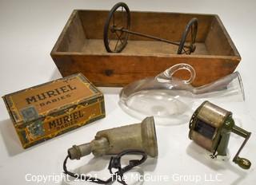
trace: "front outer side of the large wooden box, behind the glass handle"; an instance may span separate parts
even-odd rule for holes
[[[157,56],[52,56],[62,76],[83,73],[94,85],[123,86],[145,77],[154,77],[170,66],[187,63],[194,67],[197,77],[194,86],[206,85],[233,73],[239,63],[236,57],[157,57]],[[179,77],[187,78],[180,73]]]

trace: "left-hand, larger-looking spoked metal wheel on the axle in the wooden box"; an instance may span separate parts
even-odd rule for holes
[[[122,29],[130,29],[130,10],[124,2],[118,2],[110,10],[104,26],[103,40],[107,52],[120,53],[126,47],[129,33]]]

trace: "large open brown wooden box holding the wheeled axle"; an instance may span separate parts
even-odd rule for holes
[[[74,10],[71,14],[50,53],[62,76],[83,73],[94,85],[122,86],[187,63],[196,71],[193,85],[199,86],[233,73],[241,60],[214,14],[131,12],[130,30],[170,41],[180,41],[187,22],[198,18],[197,49],[191,55],[178,55],[175,45],[133,35],[122,53],[107,53],[102,37],[108,14],[102,10]]]

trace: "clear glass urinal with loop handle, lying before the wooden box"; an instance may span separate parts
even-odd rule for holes
[[[190,79],[174,76],[178,70],[187,70]],[[178,64],[156,77],[134,81],[120,93],[121,108],[138,119],[154,116],[156,123],[182,124],[190,120],[193,105],[203,100],[241,101],[245,99],[242,80],[238,72],[208,85],[193,87],[196,73],[188,64]]]

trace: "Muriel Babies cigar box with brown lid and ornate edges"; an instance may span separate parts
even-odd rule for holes
[[[81,73],[2,98],[23,148],[105,117],[103,94]]]

